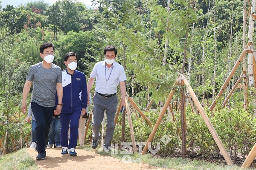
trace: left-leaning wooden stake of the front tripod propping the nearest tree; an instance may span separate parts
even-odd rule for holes
[[[179,77],[180,77],[180,75],[179,75],[177,78],[179,78]],[[179,83],[179,81],[176,81],[175,84],[174,84],[174,86],[176,86],[178,83]],[[175,90],[172,89],[172,91],[170,92],[168,98],[166,99],[166,102],[165,102],[165,104],[164,104],[164,106],[163,106],[163,109],[162,109],[162,111],[161,111],[160,114],[159,114],[159,117],[158,117],[158,119],[157,119],[157,122],[155,123],[155,125],[154,125],[154,127],[153,127],[153,130],[152,130],[152,132],[150,133],[150,135],[149,135],[149,137],[148,137],[148,140],[147,140],[147,142],[146,142],[146,144],[145,144],[145,147],[143,148],[143,151],[142,151],[141,154],[144,155],[144,154],[147,152],[147,150],[148,150],[148,142],[152,142],[152,140],[153,140],[153,138],[154,138],[154,136],[155,136],[155,134],[156,134],[156,132],[157,132],[157,129],[158,129],[158,127],[159,127],[159,125],[160,125],[160,123],[161,123],[161,121],[162,121],[162,119],[163,119],[163,116],[164,116],[164,114],[165,114],[165,112],[166,112],[166,110],[167,110],[167,107],[169,106],[169,103],[170,103],[171,100],[172,100],[172,97],[173,97],[173,95],[174,95],[174,92],[175,92]]]

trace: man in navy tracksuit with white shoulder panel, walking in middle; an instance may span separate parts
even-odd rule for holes
[[[67,53],[64,56],[64,64],[67,69],[62,71],[61,154],[69,153],[70,156],[76,156],[75,148],[78,138],[79,119],[81,113],[82,115],[86,113],[87,107],[86,78],[82,72],[76,70],[77,61],[76,53]],[[68,143],[69,128],[70,139]]]

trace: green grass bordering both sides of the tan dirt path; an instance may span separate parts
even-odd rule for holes
[[[81,148],[81,147],[80,147]],[[135,162],[149,164],[155,167],[162,167],[169,170],[243,170],[237,165],[226,166],[223,164],[209,163],[202,160],[187,160],[181,158],[155,158],[151,154],[120,154],[106,153],[98,147],[93,150],[90,145],[85,145],[81,149],[95,151],[101,155],[112,156],[116,159],[123,160],[124,163]],[[22,149],[14,153],[0,156],[0,170],[39,170],[36,161],[32,159],[28,150]],[[252,170],[252,169],[248,169]]]

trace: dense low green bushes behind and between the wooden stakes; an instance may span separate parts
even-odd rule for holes
[[[216,111],[210,112],[204,108],[207,116],[212,122],[221,142],[224,144],[227,152],[235,159],[238,153],[244,157],[253,147],[255,136],[255,119],[247,111],[241,108],[240,104],[233,105],[232,108],[222,108],[216,106]],[[154,124],[157,121],[160,111],[148,111],[146,116],[152,122],[150,127],[142,117],[132,113],[132,122],[136,142],[146,142]],[[176,113],[176,122],[168,118],[165,114],[152,141],[152,148],[156,149],[157,142],[160,142],[160,150],[157,152],[160,156],[169,156],[179,151],[181,147],[181,130],[180,130],[180,112]],[[126,116],[127,118],[127,116]],[[113,144],[120,144],[122,134],[122,116],[119,116],[116,125]],[[189,107],[186,108],[186,130],[187,130],[187,147],[195,150],[204,157],[210,157],[212,154],[218,154],[219,149],[210,134],[200,113],[192,113]],[[131,133],[128,126],[128,120],[125,122],[125,142],[131,142]],[[138,146],[137,146],[138,147]]]

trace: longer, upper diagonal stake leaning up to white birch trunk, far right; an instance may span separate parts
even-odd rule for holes
[[[248,45],[245,46],[245,48],[248,48]],[[247,50],[243,50],[240,57],[238,58],[238,60],[236,61],[236,64],[234,65],[233,69],[231,70],[230,74],[228,75],[226,81],[224,82],[224,84],[221,87],[221,90],[219,91],[218,95],[216,96],[216,98],[214,99],[214,101],[212,102],[212,105],[210,107],[210,111],[213,110],[213,108],[216,105],[216,100],[220,98],[220,96],[223,94],[225,88],[227,87],[227,84],[230,82],[230,79],[233,77],[236,69],[238,68],[240,62],[242,61],[242,59],[244,58],[244,55],[246,54]]]

